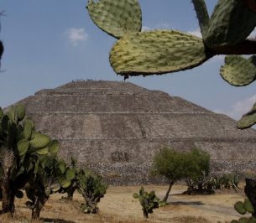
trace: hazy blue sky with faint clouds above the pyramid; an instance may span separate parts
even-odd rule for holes
[[[143,29],[175,29],[200,35],[191,0],[139,0]],[[211,14],[217,0],[206,0]],[[123,80],[108,62],[116,39],[88,15],[87,0],[2,0],[0,39],[5,51],[0,72],[0,106],[71,80]],[[219,75],[224,56],[193,70],[130,81],[180,96],[211,111],[238,119],[256,101],[255,84],[230,86]]]

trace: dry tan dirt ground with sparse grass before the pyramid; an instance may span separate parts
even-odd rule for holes
[[[156,195],[163,199],[168,185],[146,185],[145,190],[154,190]],[[82,223],[82,222],[230,222],[241,217],[233,205],[245,198],[243,185],[238,192],[233,189],[215,190],[215,194],[182,194],[186,187],[174,185],[168,199],[170,205],[154,210],[149,219],[144,219],[138,200],[133,199],[132,194],[138,193],[140,186],[110,187],[107,194],[99,203],[100,211],[96,215],[86,215],[80,210],[83,201],[81,194],[75,194],[74,200],[60,200],[63,194],[50,196],[41,211],[38,223]],[[64,194],[65,195],[65,194]],[[14,218],[8,215],[0,215],[0,223],[31,222],[31,211],[24,205],[27,199],[16,200],[16,212]],[[0,204],[1,205],[1,204]]]

